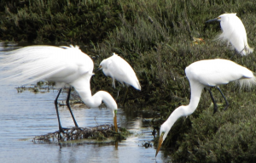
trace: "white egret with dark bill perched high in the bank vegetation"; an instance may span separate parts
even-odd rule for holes
[[[241,55],[247,55],[253,53],[253,48],[250,48],[247,43],[247,32],[241,20],[236,16],[236,13],[221,14],[218,18],[208,20],[211,22],[214,20],[220,21],[222,33],[217,39],[228,41]]]

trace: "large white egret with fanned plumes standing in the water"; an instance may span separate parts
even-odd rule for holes
[[[91,96],[90,78],[93,76],[93,61],[83,53],[79,47],[55,47],[55,46],[28,46],[3,55],[0,67],[8,69],[5,73],[9,77],[3,79],[6,82],[27,84],[37,81],[53,81],[60,91],[55,98],[55,110],[57,113],[60,132],[63,132],[57,99],[64,86],[74,87],[80,98],[88,107],[98,107],[104,102],[113,112],[115,131],[117,131],[117,104],[113,97],[99,91]],[[70,91],[67,95],[67,107],[73,117],[75,126],[78,126],[69,105]]]

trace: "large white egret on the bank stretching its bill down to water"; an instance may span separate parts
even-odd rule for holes
[[[185,73],[189,79],[191,91],[189,105],[179,106],[160,126],[160,138],[155,156],[158,154],[161,144],[165,140],[175,121],[177,121],[179,117],[191,115],[195,111],[201,98],[201,91],[204,87],[218,87],[219,85],[228,84],[233,81],[240,82],[241,87],[251,87],[256,84],[256,78],[253,76],[251,70],[226,59],[197,61],[189,65],[185,69]],[[217,105],[213,98],[212,101],[217,109]]]

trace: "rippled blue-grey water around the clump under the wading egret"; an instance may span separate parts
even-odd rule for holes
[[[4,51],[16,48],[0,43],[0,59]],[[0,79],[1,76],[0,70]],[[154,157],[152,128],[143,122],[143,114],[118,110],[119,126],[133,132],[126,140],[113,143],[33,143],[34,136],[55,132],[58,123],[54,99],[57,90],[47,93],[17,93],[16,85],[0,83],[0,160],[1,162],[168,162],[163,153]],[[61,93],[59,100],[65,100]],[[84,109],[72,106],[79,126],[112,124],[113,117],[106,109]],[[61,125],[73,126],[67,107],[60,107]],[[129,112],[130,114],[127,114]],[[132,113],[132,114],[131,114]]]

